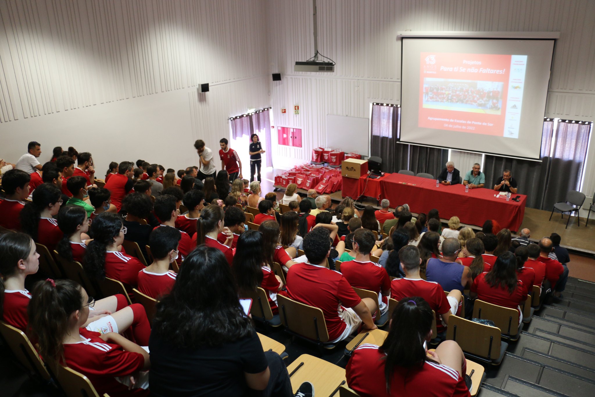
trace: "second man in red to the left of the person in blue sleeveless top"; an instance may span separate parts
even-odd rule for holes
[[[375,245],[374,233],[359,229],[353,233],[355,259],[341,264],[341,273],[352,287],[378,293],[380,314],[389,309],[390,277],[381,265],[370,261],[370,252]],[[376,313],[372,313],[372,318]]]

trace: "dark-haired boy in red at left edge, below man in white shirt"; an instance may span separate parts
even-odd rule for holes
[[[0,201],[0,226],[21,230],[20,214],[29,196],[30,174],[23,170],[8,170],[2,176],[4,200]]]

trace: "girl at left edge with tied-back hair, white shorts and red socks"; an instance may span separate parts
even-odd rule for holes
[[[31,237],[24,233],[0,235],[0,273],[4,276],[4,282],[0,280],[0,318],[23,332],[29,323],[27,307],[31,299],[25,278],[37,273],[38,268],[39,254]],[[125,332],[130,328],[134,340],[143,346],[149,343],[151,327],[142,305],[128,306],[126,296],[118,294],[100,299],[90,307],[83,328],[101,333]]]

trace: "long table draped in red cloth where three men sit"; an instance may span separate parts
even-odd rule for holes
[[[377,185],[371,187],[370,182]],[[345,186],[349,185],[349,194]],[[381,199],[389,199],[390,207],[409,204],[411,211],[427,213],[436,208],[440,218],[457,216],[462,223],[482,226],[488,219],[498,221],[500,226],[516,232],[525,215],[526,195],[519,196],[519,202],[506,201],[492,189],[469,189],[461,184],[436,187],[436,180],[403,174],[385,174],[380,179],[368,180],[364,192],[365,177],[358,179],[343,177],[343,196],[356,198],[362,193]]]

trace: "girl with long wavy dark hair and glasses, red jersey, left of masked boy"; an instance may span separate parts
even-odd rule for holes
[[[130,294],[138,285],[139,271],[145,265],[137,258],[118,251],[127,230],[120,215],[111,212],[97,215],[91,223],[93,240],[84,253],[83,268],[90,279],[101,281],[109,277],[122,282]]]

